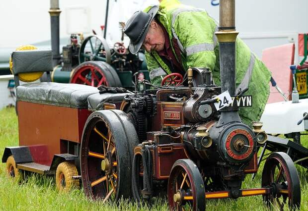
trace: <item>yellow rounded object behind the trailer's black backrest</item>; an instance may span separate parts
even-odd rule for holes
[[[15,51],[31,51],[31,50],[37,50],[35,46],[32,45],[26,45],[26,46],[20,46]],[[11,73],[13,74],[13,62],[12,57],[9,57],[9,69]],[[43,72],[29,72],[29,73],[19,73],[19,80],[23,82],[32,82],[36,81],[43,75]]]

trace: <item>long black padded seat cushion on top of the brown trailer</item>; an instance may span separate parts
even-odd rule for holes
[[[53,82],[28,83],[17,87],[17,100],[31,103],[87,108],[88,96],[98,93],[96,87]]]

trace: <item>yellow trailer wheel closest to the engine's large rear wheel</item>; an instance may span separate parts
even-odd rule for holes
[[[73,176],[78,176],[76,166],[70,162],[61,162],[56,171],[56,187],[59,191],[69,191],[79,187],[79,180]]]

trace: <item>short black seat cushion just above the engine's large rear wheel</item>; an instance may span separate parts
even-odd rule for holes
[[[104,103],[108,104],[120,104],[124,97],[127,95],[132,95],[130,93],[104,93],[104,94],[94,94],[88,97],[88,109],[89,110],[103,110]]]

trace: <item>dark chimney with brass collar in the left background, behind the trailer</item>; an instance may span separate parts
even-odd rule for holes
[[[50,0],[50,31],[53,66],[59,64],[60,55],[60,13],[59,0]]]

